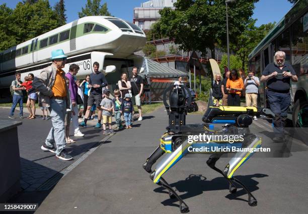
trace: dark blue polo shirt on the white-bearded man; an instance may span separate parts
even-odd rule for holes
[[[269,79],[266,83],[267,88],[272,91],[277,92],[288,92],[290,90],[290,77],[283,77],[283,72],[291,72],[292,75],[296,75],[293,67],[290,64],[285,63],[282,69],[280,69],[277,65],[274,63],[268,64],[262,75],[268,76],[274,72],[278,73],[277,77],[274,77],[272,79]],[[281,74],[281,75],[279,75]]]

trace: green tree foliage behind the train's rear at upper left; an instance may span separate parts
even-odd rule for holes
[[[64,7],[64,1],[60,2],[63,2]],[[19,2],[14,10],[6,4],[0,5],[0,51],[63,24],[65,22],[60,22],[58,14],[52,10],[48,0],[24,0]]]

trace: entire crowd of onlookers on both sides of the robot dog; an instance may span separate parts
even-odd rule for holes
[[[150,103],[149,83],[138,75],[138,68],[133,67],[132,77],[128,80],[127,74],[121,75],[118,81],[118,89],[111,91],[105,75],[100,72],[100,64],[93,63],[94,72],[86,77],[86,80],[76,80],[75,76],[79,66],[70,64],[65,74],[62,68],[66,63],[66,55],[62,49],[54,50],[51,53],[52,64],[46,67],[39,76],[29,74],[21,82],[20,73],[16,73],[16,80],[12,82],[11,92],[13,104],[10,111],[10,118],[14,118],[14,111],[17,104],[20,105],[20,117],[23,118],[23,91],[27,91],[27,108],[29,119],[35,118],[35,101],[38,98],[39,106],[42,109],[42,119],[48,120],[48,112],[52,121],[52,127],[45,144],[41,147],[44,151],[56,154],[62,160],[71,160],[72,157],[66,153],[65,145],[74,142],[69,137],[69,126],[72,123],[74,136],[82,137],[80,126],[87,127],[88,120],[97,111],[98,122],[95,128],[101,128],[103,119],[103,133],[115,133],[112,129],[112,116],[116,121],[116,129],[124,128],[121,116],[125,121],[125,128],[132,128],[132,116],[135,112],[133,105],[137,106],[138,121],[142,120],[141,96],[143,91]],[[248,72],[245,76],[243,70],[226,70],[223,80],[220,74],[214,77],[212,83],[212,100],[215,106],[240,106],[241,96],[245,94],[246,106],[257,107],[258,86],[260,81],[267,82],[267,99],[270,108],[275,114],[274,131],[281,133],[285,125],[286,111],[290,104],[290,80],[296,82],[297,76],[291,65],[284,62],[285,53],[277,51],[274,56],[274,63],[265,68],[261,80],[254,72]],[[175,86],[181,85],[181,78]],[[112,98],[113,97],[113,98]],[[257,119],[256,117],[254,119]],[[79,123],[79,120],[81,123]],[[280,128],[280,129],[279,129]],[[56,148],[54,147],[54,142]]]

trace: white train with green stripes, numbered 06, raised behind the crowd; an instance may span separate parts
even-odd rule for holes
[[[0,53],[0,89],[9,88],[15,72],[22,81],[29,73],[37,76],[51,64],[51,51],[63,49],[67,72],[71,63],[80,66],[77,79],[93,72],[94,61],[100,63],[108,84],[114,85],[120,74],[140,67],[143,58],[133,53],[145,45],[146,37],[136,25],[115,17],[89,16],[78,19]],[[114,75],[110,75],[110,74]],[[1,90],[3,91],[3,90]]]

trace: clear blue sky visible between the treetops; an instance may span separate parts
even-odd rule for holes
[[[147,0],[102,0],[101,3],[107,3],[111,15],[132,22],[134,7],[140,7],[142,2]],[[0,0],[0,5],[6,3],[8,7],[15,8],[18,0]],[[49,0],[51,6],[54,6],[58,0]],[[85,7],[87,0],[64,0],[67,23],[78,19],[78,12]],[[258,19],[257,26],[269,22],[279,22],[279,20],[291,9],[292,4],[287,0],[260,0],[255,4],[254,19]],[[279,13],[278,13],[279,12]]]

